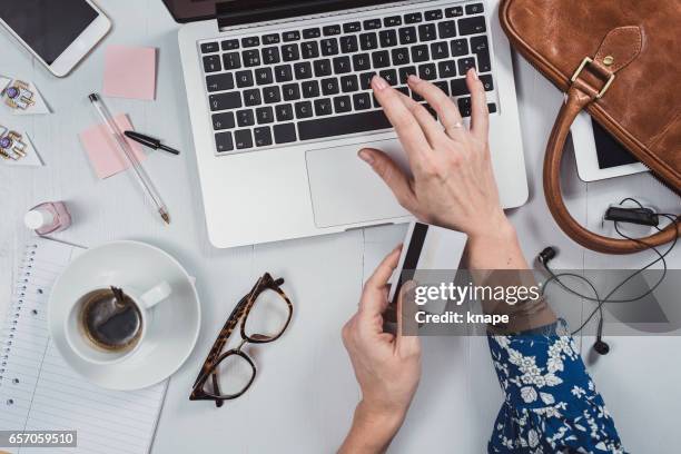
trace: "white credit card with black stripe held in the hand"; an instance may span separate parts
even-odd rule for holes
[[[388,295],[391,304],[397,304],[403,279],[408,277],[403,276],[403,272],[418,274],[424,270],[437,270],[438,278],[454,282],[467,240],[467,235],[461,231],[412,221],[404,239],[399,264],[391,278]],[[445,306],[445,300],[432,302],[425,309],[431,314],[442,314]]]

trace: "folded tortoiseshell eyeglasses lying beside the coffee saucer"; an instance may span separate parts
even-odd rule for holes
[[[190,401],[225,401],[241,396],[256,376],[256,366],[244,352],[246,344],[268,344],[282,337],[293,315],[293,304],[282,290],[284,279],[265,273],[236,305],[220,330],[201,372],[194,383]],[[229,336],[240,323],[241,342],[223,353]],[[209,382],[210,379],[210,382]]]

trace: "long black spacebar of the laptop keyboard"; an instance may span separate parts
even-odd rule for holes
[[[348,134],[368,132],[391,128],[383,110],[315,118],[298,122],[300,140],[314,140]]]

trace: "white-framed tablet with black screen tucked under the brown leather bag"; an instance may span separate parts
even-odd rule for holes
[[[589,114],[578,116],[571,132],[580,179],[598,181],[648,171]]]

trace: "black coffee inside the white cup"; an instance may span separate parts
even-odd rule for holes
[[[90,342],[107,351],[135,347],[142,332],[142,319],[137,304],[124,295],[119,302],[114,292],[101,289],[86,297],[80,312],[81,328]]]

